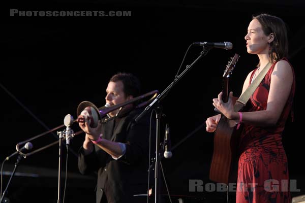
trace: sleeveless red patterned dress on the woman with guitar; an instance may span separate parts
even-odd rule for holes
[[[283,58],[282,60],[287,59]],[[266,109],[271,74],[275,64],[272,64],[265,78],[249,99],[245,111]],[[253,71],[250,81],[256,71],[257,69]],[[287,157],[282,145],[282,132],[291,112],[295,91],[294,78],[293,72],[290,95],[276,126],[259,127],[247,123],[243,125],[239,144],[237,203],[291,201]]]

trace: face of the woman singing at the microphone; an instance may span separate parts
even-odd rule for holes
[[[270,34],[271,35],[271,34]],[[268,54],[269,36],[266,36],[262,25],[257,19],[253,19],[248,26],[248,33],[245,36],[247,41],[247,52],[250,54]]]

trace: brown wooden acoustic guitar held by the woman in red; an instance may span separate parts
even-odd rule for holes
[[[228,101],[228,84],[232,71],[238,61],[239,55],[235,54],[226,65],[223,75],[224,102]],[[233,103],[237,100],[233,97]],[[236,122],[228,120],[224,115],[217,125],[214,134],[214,152],[211,160],[209,179],[218,183],[235,183],[237,179],[237,145],[241,128],[236,129]]]

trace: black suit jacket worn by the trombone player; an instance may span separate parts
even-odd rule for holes
[[[92,154],[83,155],[79,150],[78,167],[82,174],[98,171],[96,202],[100,203],[106,194],[108,202],[133,202],[133,195],[147,193],[147,169],[149,151],[149,118],[143,116],[139,122],[132,122],[142,109],[103,124],[103,138],[126,144],[126,153],[118,160],[98,146]],[[151,132],[154,140],[155,125]],[[152,145],[154,146],[154,145]],[[154,149],[154,148],[153,148]]]

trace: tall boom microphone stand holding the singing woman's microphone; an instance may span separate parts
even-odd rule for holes
[[[159,154],[159,140],[160,140],[160,118],[162,115],[162,108],[160,105],[160,101],[165,97],[165,95],[169,92],[169,90],[187,73],[191,70],[191,68],[194,66],[196,62],[198,62],[199,59],[201,59],[203,56],[207,54],[207,52],[210,50],[210,47],[204,47],[203,51],[201,51],[200,55],[190,64],[187,65],[186,69],[178,75],[175,80],[161,93],[159,94],[155,100],[153,100],[143,111],[142,113],[137,116],[137,118],[134,119],[134,122],[137,123],[138,120],[140,120],[144,114],[149,112],[151,108],[154,107],[156,111],[156,159],[155,159],[155,202],[159,202],[159,165],[160,165],[160,154]],[[156,107],[155,107],[156,106]]]

